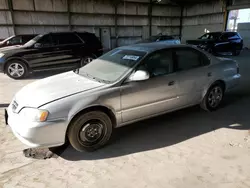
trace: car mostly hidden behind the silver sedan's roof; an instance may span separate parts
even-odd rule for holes
[[[152,43],[152,42],[163,43],[163,44],[180,44],[179,39],[176,39],[173,36],[168,36],[168,35],[151,36],[145,40],[137,42],[137,44]]]

